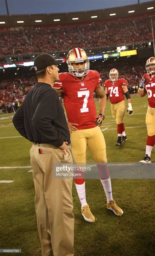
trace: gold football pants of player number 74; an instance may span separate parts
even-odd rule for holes
[[[119,103],[111,103],[112,117],[116,119],[116,124],[121,124],[126,110],[125,101],[122,100]]]

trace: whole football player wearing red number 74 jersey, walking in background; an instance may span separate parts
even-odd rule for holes
[[[117,69],[111,69],[109,73],[109,80],[104,83],[105,92],[110,97],[112,117],[116,119],[117,124],[117,135],[118,139],[115,143],[116,146],[121,146],[122,142],[127,140],[125,133],[125,126],[123,123],[123,117],[126,110],[126,104],[124,101],[124,94],[128,101],[129,115],[132,114],[131,97],[129,95],[127,80],[124,78],[118,79],[119,73]]]

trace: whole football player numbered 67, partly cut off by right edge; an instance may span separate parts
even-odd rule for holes
[[[155,144],[155,57],[146,61],[147,74],[142,76],[138,93],[141,97],[148,96],[146,113],[147,141],[146,154],[140,163],[151,163],[151,151]]]

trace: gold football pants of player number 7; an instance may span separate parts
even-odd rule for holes
[[[71,133],[71,146],[76,162],[87,161],[86,150],[89,147],[95,162],[107,163],[106,143],[98,126],[90,129],[77,130]]]

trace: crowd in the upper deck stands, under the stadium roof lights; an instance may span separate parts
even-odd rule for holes
[[[153,16],[155,28],[155,16]],[[17,30],[18,29],[18,30]],[[0,55],[68,51],[151,40],[151,18],[66,27],[16,27],[0,32]]]

